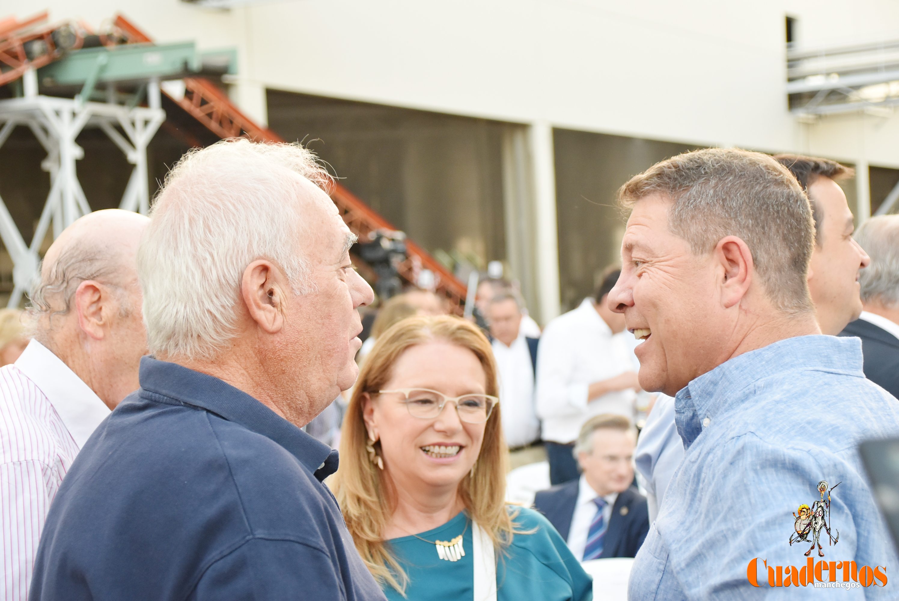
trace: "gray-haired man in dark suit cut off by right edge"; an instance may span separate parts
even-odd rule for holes
[[[841,336],[861,338],[868,380],[899,398],[899,215],[872,217],[855,239],[871,264],[859,274],[864,310]]]

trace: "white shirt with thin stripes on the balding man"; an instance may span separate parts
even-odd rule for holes
[[[50,502],[110,409],[31,340],[0,368],[0,600],[26,601]]]

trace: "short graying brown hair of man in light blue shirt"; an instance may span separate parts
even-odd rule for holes
[[[654,193],[672,200],[668,227],[696,254],[726,236],[749,246],[762,286],[785,312],[814,310],[806,275],[814,222],[806,193],[788,169],[758,152],[704,148],[657,163],[619,189],[619,203]]]

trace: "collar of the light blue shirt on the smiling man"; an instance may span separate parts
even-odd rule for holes
[[[738,407],[764,379],[783,372],[840,372],[864,378],[859,338],[796,336],[743,353],[703,373],[674,399],[678,434],[689,447],[717,417]]]

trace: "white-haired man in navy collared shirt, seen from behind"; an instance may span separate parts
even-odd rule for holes
[[[355,380],[372,300],[329,183],[245,139],[166,177],[138,251],[154,356],[59,489],[31,598],[384,598],[300,429]]]

